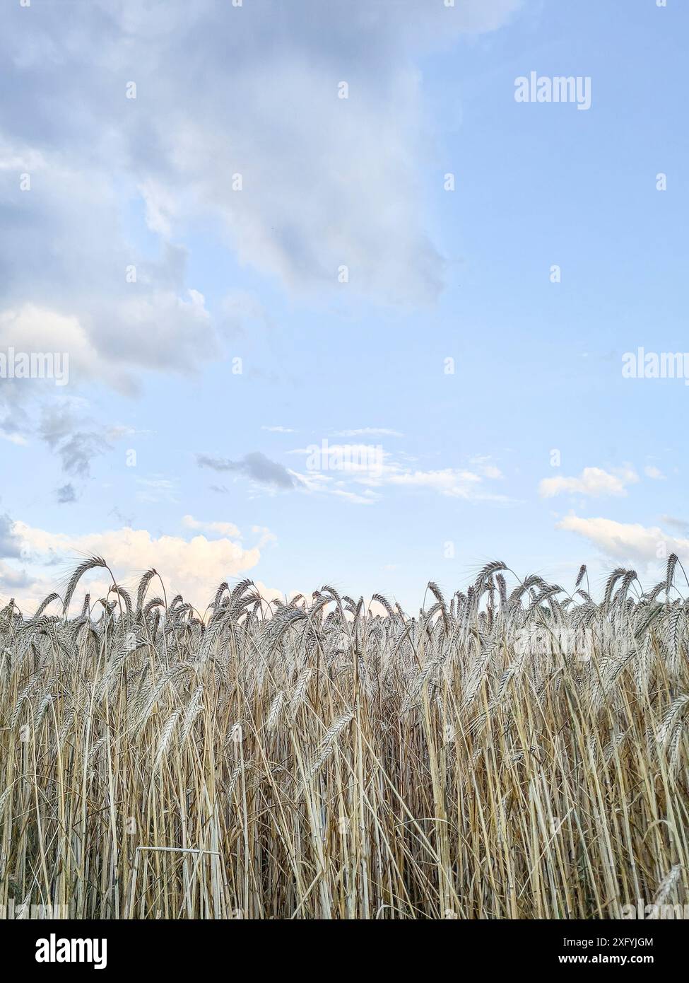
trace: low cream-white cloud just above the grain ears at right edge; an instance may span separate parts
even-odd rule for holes
[[[680,558],[689,557],[689,540],[668,536],[659,526],[646,527],[639,523],[567,515],[557,523],[557,528],[583,536],[608,556],[617,559],[653,563],[671,552],[676,552]]]

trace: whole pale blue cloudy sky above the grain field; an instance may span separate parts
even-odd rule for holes
[[[0,20],[1,603],[689,561],[685,3]]]

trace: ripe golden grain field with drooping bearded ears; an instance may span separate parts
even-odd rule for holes
[[[97,568],[32,616],[0,611],[3,910],[567,919],[689,900],[674,555],[651,591],[613,570],[600,602],[586,567],[569,594],[493,562],[449,602],[429,584],[416,616],[251,581],[200,612],[155,570],[77,614]]]

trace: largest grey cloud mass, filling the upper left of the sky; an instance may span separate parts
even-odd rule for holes
[[[0,156],[13,161],[0,169],[0,305],[77,318],[77,380],[127,389],[144,367],[192,371],[219,342],[172,241],[208,215],[242,262],[291,288],[339,289],[346,264],[353,292],[432,302],[443,260],[420,220],[415,161],[433,135],[419,61],[518,6],[92,0],[78,18],[42,4],[28,29],[16,3],[0,35]],[[340,81],[348,99],[337,98]],[[125,236],[123,187],[167,244],[161,260]]]

